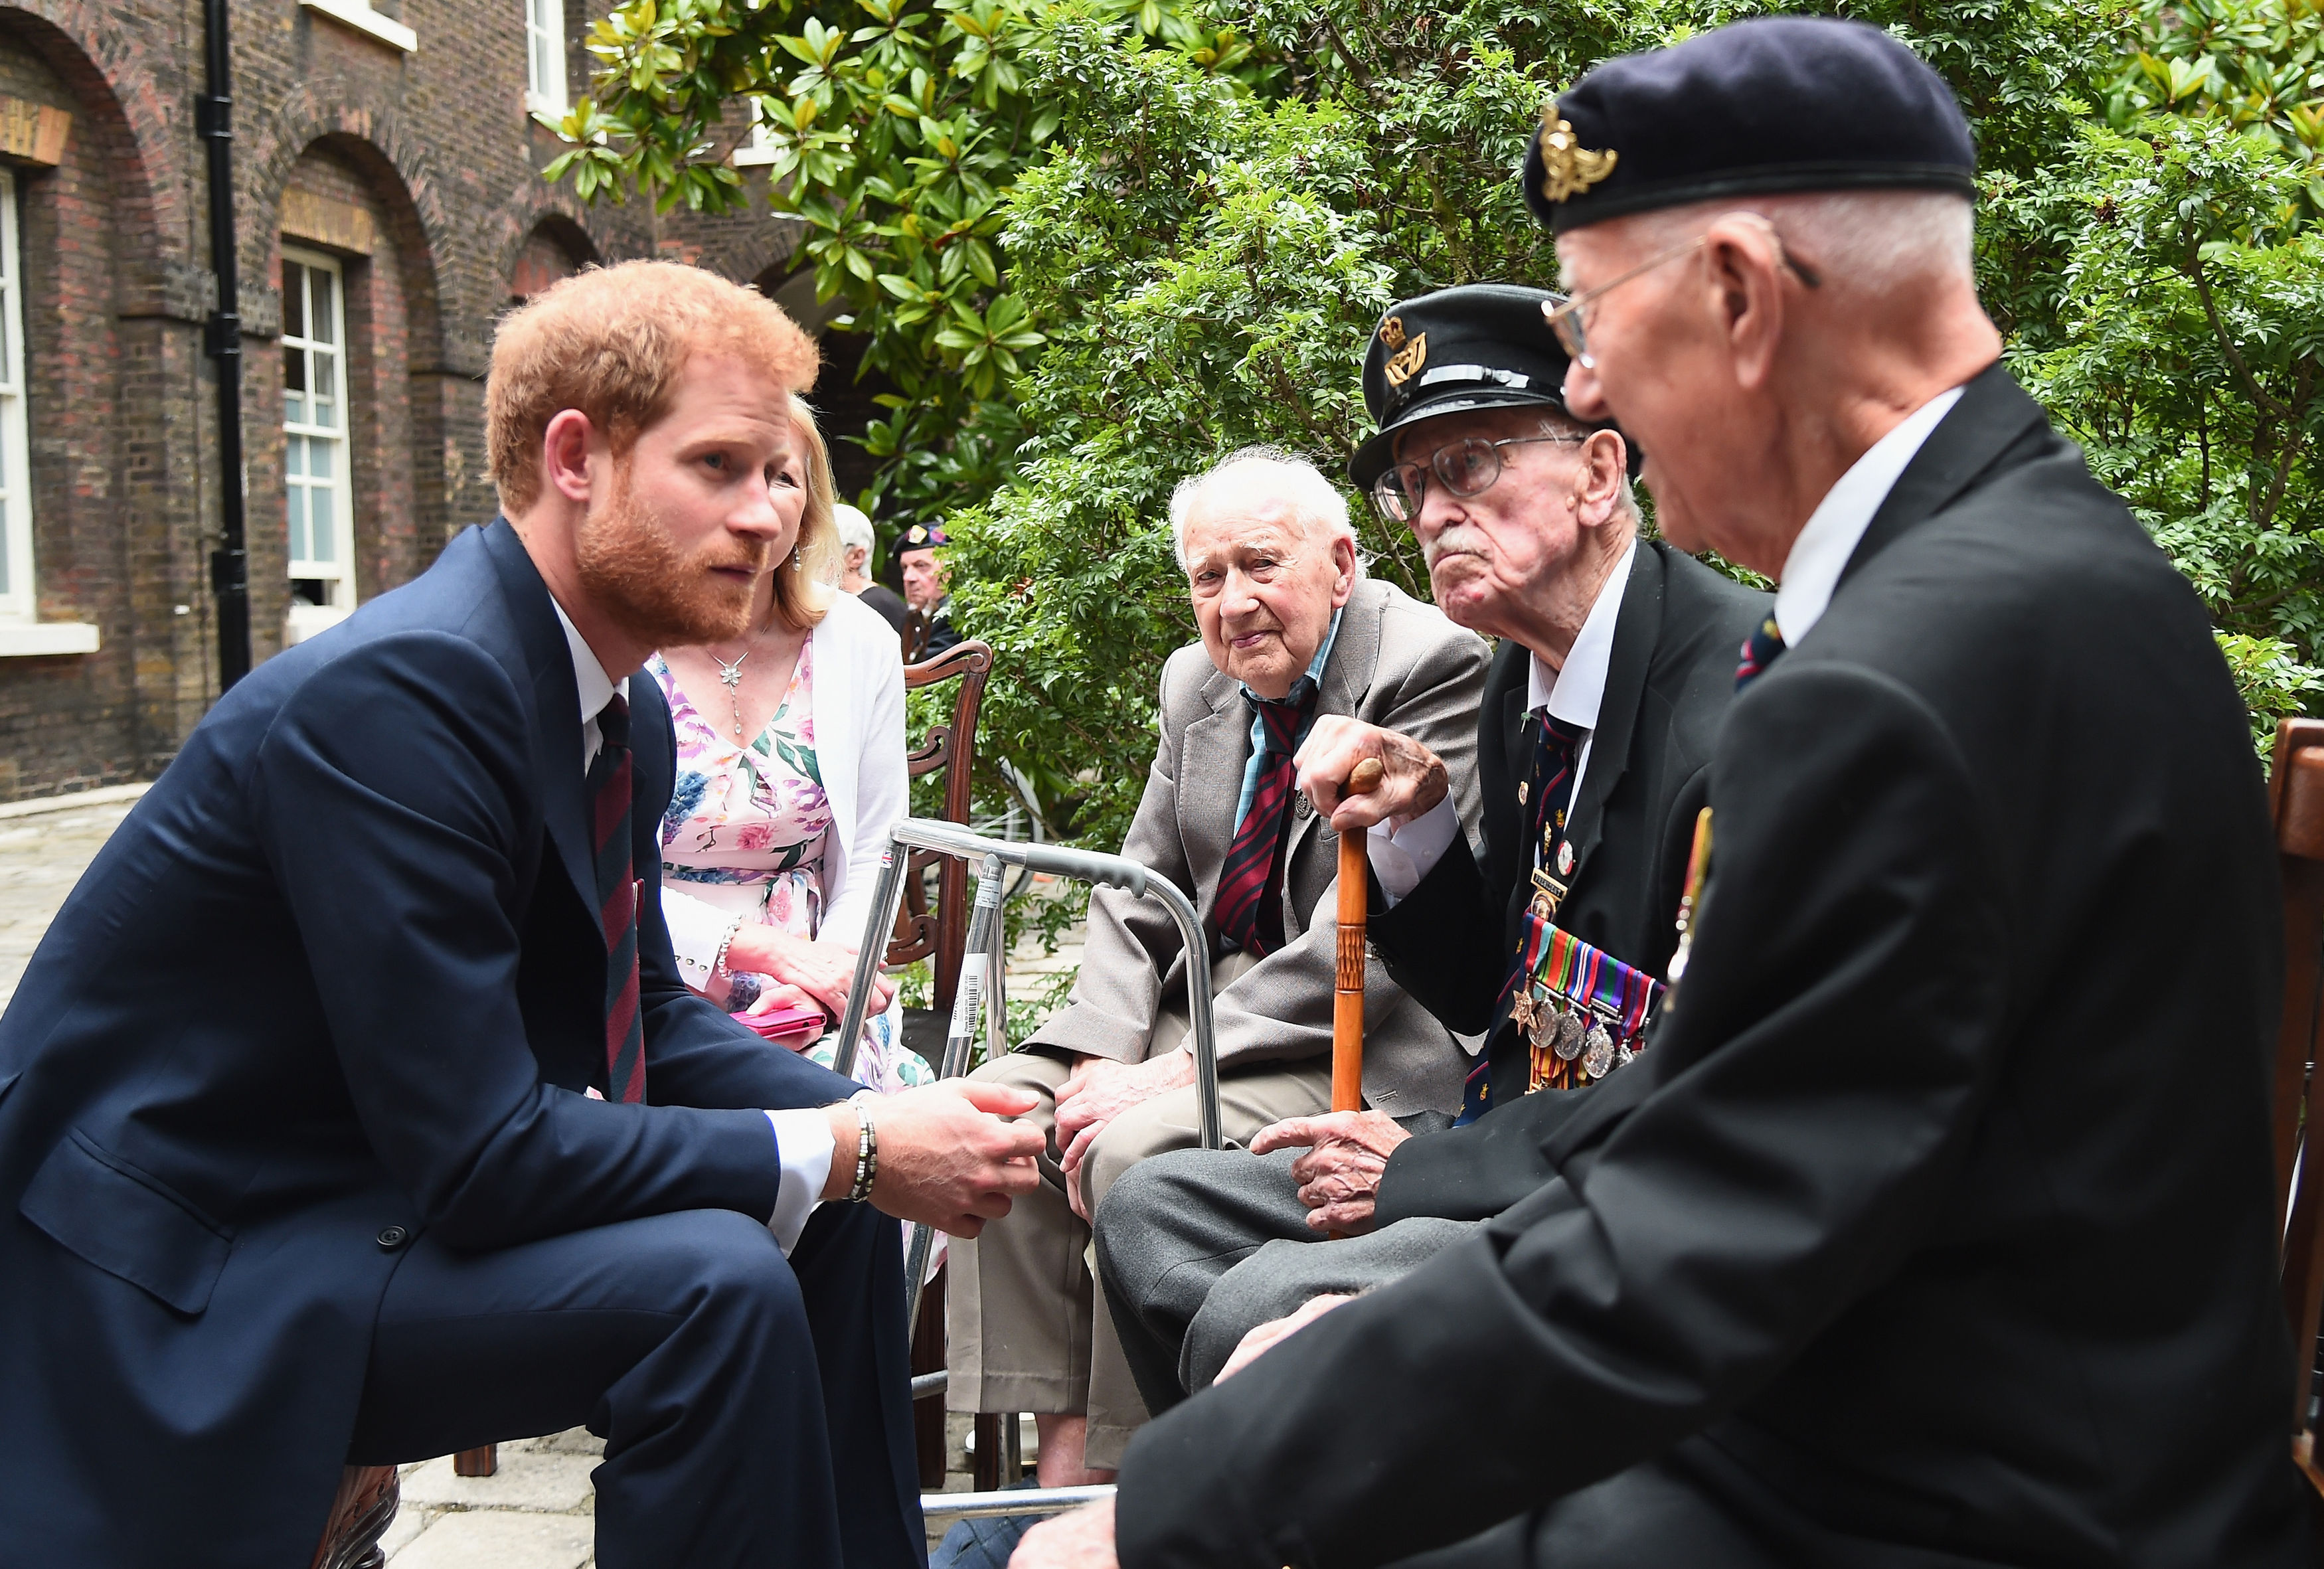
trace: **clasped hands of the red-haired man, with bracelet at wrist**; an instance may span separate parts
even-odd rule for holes
[[[871,1109],[878,1130],[871,1202],[899,1220],[927,1220],[953,1237],[974,1237],[985,1220],[1009,1213],[1009,1195],[1041,1183],[1034,1169],[1041,1132],[1002,1120],[1034,1104],[1027,1090],[974,1079],[883,1095]],[[855,1106],[841,1102],[830,1118],[832,1174],[823,1197],[841,1199],[855,1185]]]

